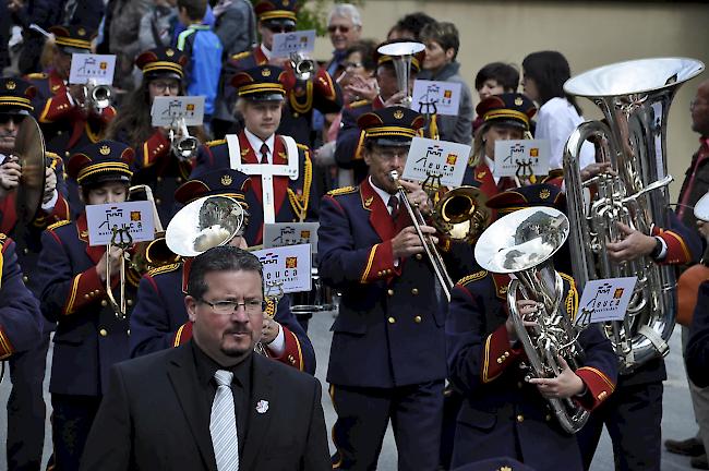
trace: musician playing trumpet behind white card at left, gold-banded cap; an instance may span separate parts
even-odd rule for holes
[[[87,205],[122,203],[128,196],[133,149],[99,141],[74,154],[68,173]],[[128,321],[107,301],[107,258],[113,287],[122,250],[88,245],[86,213],[57,222],[43,234],[37,266],[41,312],[57,322],[49,391],[57,470],[79,469],[86,436],[106,390],[111,365],[129,358]],[[134,291],[127,286],[127,304]],[[130,307],[129,307],[130,311]]]

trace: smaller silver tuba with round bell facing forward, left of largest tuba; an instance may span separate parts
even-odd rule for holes
[[[568,219],[563,213],[550,207],[531,207],[500,218],[476,244],[476,261],[482,268],[516,276],[507,289],[507,306],[529,361],[529,364],[520,364],[527,379],[557,376],[562,371],[560,355],[572,370],[578,369],[584,359],[584,350],[577,341],[578,330],[565,310],[562,276],[551,263],[568,232]],[[524,319],[519,314],[519,297],[538,302],[539,310],[533,318]],[[524,321],[533,321],[537,325],[528,328]],[[568,433],[578,432],[588,420],[589,412],[570,398],[548,401]]]

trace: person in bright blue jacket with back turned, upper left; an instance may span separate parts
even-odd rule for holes
[[[212,27],[203,23],[206,9],[207,0],[178,0],[180,22],[188,28],[178,36],[177,48],[190,59],[188,95],[205,96],[204,122],[208,124],[214,113],[224,48]]]

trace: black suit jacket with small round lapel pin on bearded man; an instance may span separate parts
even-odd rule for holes
[[[331,470],[317,379],[257,354],[252,375],[240,470]],[[81,469],[216,471],[203,406],[189,343],[117,364]]]

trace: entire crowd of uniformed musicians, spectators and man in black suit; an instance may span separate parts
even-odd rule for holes
[[[493,62],[466,77],[454,23],[410,13],[386,38],[366,38],[357,7],[335,3],[333,56],[303,73],[298,61],[310,59],[273,53],[275,35],[299,29],[299,3],[0,2],[7,468],[38,470],[51,440],[53,470],[369,470],[390,424],[400,470],[588,470],[603,426],[617,470],[659,470],[668,339],[626,322],[626,337],[638,329],[658,348],[634,363],[627,342],[590,324],[549,355],[558,358],[543,359],[554,369],[530,373],[540,316],[573,322],[579,312],[569,244],[553,256],[553,281],[537,280],[551,292],[518,291],[524,276],[483,269],[476,238],[436,224],[448,189],[397,177],[412,140],[425,136],[471,147],[462,184],[482,196],[486,225],[534,207],[556,221],[582,212],[570,207],[579,203],[567,197],[562,171],[584,122],[564,92],[566,58],[538,51],[521,68]],[[380,51],[404,43],[421,45],[408,84],[398,58]],[[116,56],[110,104],[69,82],[76,53]],[[458,112],[402,106],[416,80],[458,84]],[[205,97],[203,123],[153,125],[154,100],[180,96]],[[690,300],[683,353],[699,432],[665,446],[709,469],[709,275],[695,269],[709,225],[693,212],[709,191],[709,82],[690,111],[701,141],[676,214],[659,209],[665,227],[613,221],[615,235],[599,235],[592,249],[604,264],[680,279],[680,304]],[[549,174],[497,176],[496,144],[529,138],[549,141]],[[199,145],[185,149],[185,140]],[[39,143],[44,188],[27,216],[23,198],[37,169],[26,155]],[[582,143],[573,169],[590,197],[628,170],[612,168],[602,150],[600,140]],[[146,245],[89,244],[86,206],[146,197],[163,227],[208,197],[228,198],[248,218],[196,256],[170,252],[163,232]],[[317,274],[340,295],[328,359],[315,358],[293,300],[266,295],[250,253],[263,246],[265,225],[303,221],[320,222]],[[537,219],[516,237],[544,239],[548,229]],[[122,281],[125,310],[112,294]],[[316,360],[327,363],[337,414],[332,456]]]

